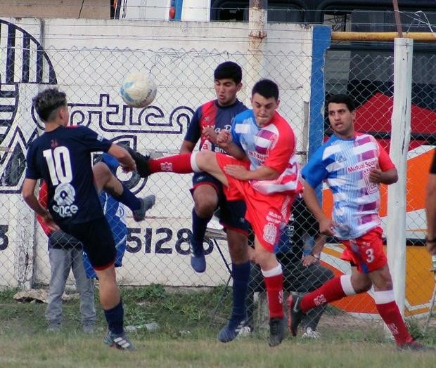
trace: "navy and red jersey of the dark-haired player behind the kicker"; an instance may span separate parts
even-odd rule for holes
[[[221,148],[212,144],[210,140],[205,139],[202,134],[203,128],[213,126],[217,133],[221,129],[230,131],[233,117],[245,110],[247,110],[247,107],[240,100],[236,100],[233,105],[229,106],[220,106],[217,100],[209,101],[195,110],[188,131],[186,131],[185,140],[193,143],[200,140],[200,150],[224,152]]]

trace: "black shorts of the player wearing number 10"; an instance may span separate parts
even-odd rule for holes
[[[96,270],[104,270],[115,262],[117,250],[112,230],[105,217],[87,223],[63,225],[62,230],[82,242],[83,250]]]

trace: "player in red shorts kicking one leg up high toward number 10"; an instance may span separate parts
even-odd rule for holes
[[[294,132],[276,111],[279,103],[274,81],[261,79],[253,86],[252,110],[236,115],[231,132],[223,129],[217,137],[217,145],[229,155],[201,150],[150,159],[132,152],[142,177],[206,171],[224,184],[227,200],[245,201],[245,218],[255,232],[255,259],[267,287],[269,346],[280,344],[286,329],[283,273],[274,249],[288,223],[295,192],[301,189]]]

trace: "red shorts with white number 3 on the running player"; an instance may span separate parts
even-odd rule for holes
[[[340,258],[357,265],[357,270],[369,273],[382,268],[387,263],[382,241],[383,230],[373,228],[357,239],[342,240],[347,247]]]

